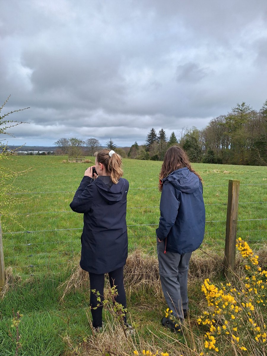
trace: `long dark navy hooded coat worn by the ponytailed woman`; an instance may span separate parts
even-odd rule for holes
[[[124,178],[113,184],[108,176],[96,180],[83,177],[70,208],[84,214],[80,266],[85,271],[102,274],[125,265],[128,189],[129,182]]]

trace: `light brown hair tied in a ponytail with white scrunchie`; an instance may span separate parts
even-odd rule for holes
[[[104,165],[107,173],[110,173],[112,182],[117,184],[120,177],[123,176],[123,171],[121,169],[121,156],[114,152],[110,157],[109,152],[110,150],[105,148],[104,150],[97,153],[96,159],[98,163],[102,163]]]

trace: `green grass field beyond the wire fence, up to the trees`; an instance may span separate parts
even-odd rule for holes
[[[80,251],[83,215],[73,213],[69,203],[90,164],[64,164],[64,158],[20,156],[5,162],[7,168],[17,171],[32,167],[31,172],[16,179],[15,186],[27,192],[37,192],[16,195],[27,199],[12,211],[21,215],[15,216],[16,221],[4,221],[5,264],[14,267],[20,274],[43,273],[47,269],[57,272],[66,267],[74,253]],[[91,157],[91,160],[93,164],[94,158]],[[155,253],[160,200],[157,185],[162,162],[124,159],[123,163],[124,177],[130,183],[127,197],[129,250],[138,246],[149,253]],[[266,167],[217,164],[193,164],[193,167],[204,180],[207,223],[202,247],[215,248],[218,253],[222,253],[228,180],[239,179],[241,183],[239,219],[264,219],[267,210],[267,185],[264,185],[267,183]],[[261,243],[266,236],[266,220],[239,221],[238,230],[239,236],[247,241]]]

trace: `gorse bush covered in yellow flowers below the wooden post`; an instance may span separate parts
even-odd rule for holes
[[[227,353],[232,349],[265,355],[267,271],[258,266],[258,256],[250,246],[239,238],[237,250],[243,257],[245,276],[230,283],[220,283],[220,288],[205,279],[202,291],[208,302],[208,309],[199,316],[199,325],[208,326],[204,338],[204,351]],[[200,355],[204,355],[201,352]]]

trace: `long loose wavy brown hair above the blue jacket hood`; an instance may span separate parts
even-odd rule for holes
[[[176,169],[187,167],[189,171],[195,173],[202,182],[202,178],[197,172],[192,169],[189,162],[189,158],[185,151],[179,146],[171,146],[168,148],[164,156],[164,161],[161,167],[161,172],[159,173],[159,179],[166,178],[170,173],[176,171]],[[158,185],[159,190],[162,191],[162,184]]]

